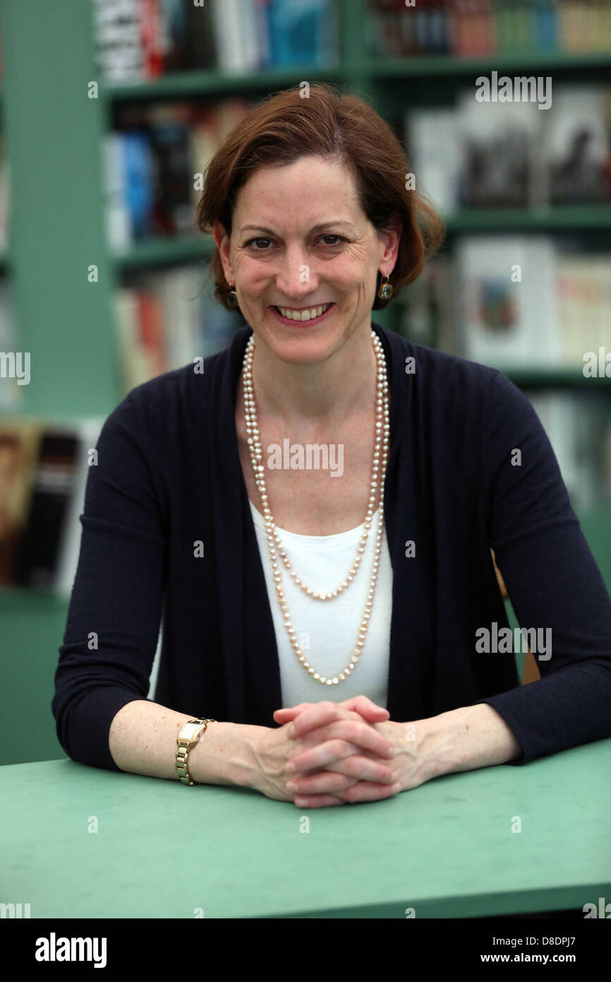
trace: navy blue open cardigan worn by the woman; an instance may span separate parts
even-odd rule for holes
[[[495,369],[373,326],[391,392],[390,718],[487,702],[517,764],[611,736],[611,600],[531,403]],[[278,650],[234,423],[250,334],[203,374],[187,364],[137,386],[104,423],[52,703],[75,760],[118,770],[110,725],[147,696],[162,613],[156,702],[276,726]],[[476,650],[478,628],[508,627],[490,547],[520,625],[552,629],[540,681],[521,685],[511,652]]]

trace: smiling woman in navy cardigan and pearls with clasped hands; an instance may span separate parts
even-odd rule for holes
[[[535,411],[372,324],[442,225],[371,107],[300,94],[235,128],[199,205],[217,299],[248,326],[102,430],[59,739],[317,807],[611,736],[611,601]],[[529,685],[496,645],[490,550],[520,623],[552,631]]]

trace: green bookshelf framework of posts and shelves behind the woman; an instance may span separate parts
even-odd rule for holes
[[[449,103],[457,82],[492,69],[520,74],[547,69],[560,78],[583,81],[606,79],[611,68],[611,52],[558,56],[522,51],[475,60],[372,58],[366,7],[365,0],[337,0],[340,57],[335,69],[303,66],[227,77],[193,72],[110,85],[95,69],[89,0],[0,0],[0,108],[13,215],[11,243],[0,253],[0,270],[12,284],[20,348],[31,353],[32,384],[26,387],[22,414],[58,419],[108,415],[122,398],[113,298],[123,273],[197,261],[211,252],[211,240],[197,236],[156,240],[119,254],[108,247],[101,145],[122,101],[257,97],[304,80],[331,81],[371,99],[391,121],[402,119],[410,104]],[[87,96],[92,81],[100,83],[98,98]],[[611,208],[598,206],[461,212],[448,216],[448,247],[462,233],[491,230],[566,231],[600,238],[610,219]],[[94,282],[88,278],[91,266],[97,269]],[[376,314],[389,327],[394,317],[392,304]],[[586,381],[579,372],[566,371],[522,371],[514,380],[525,387],[581,386]],[[599,385],[608,383],[598,380]],[[611,515],[601,511],[580,518],[611,588]],[[0,764],[64,755],[55,737],[49,693],[67,608],[67,600],[44,591],[0,590],[6,680]],[[25,687],[29,718],[36,723],[28,725],[24,736],[19,709]]]

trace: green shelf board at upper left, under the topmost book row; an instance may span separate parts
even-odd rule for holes
[[[125,82],[100,85],[100,94],[107,101],[128,99],[169,99],[193,95],[238,95],[240,90],[249,94],[255,90],[273,90],[295,85],[302,80],[337,81],[342,78],[340,66],[321,68],[317,65],[287,66],[280,69],[264,69],[261,72],[219,75],[218,72],[177,72],[154,82]]]

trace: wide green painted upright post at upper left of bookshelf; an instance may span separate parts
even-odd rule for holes
[[[107,414],[120,401],[114,271],[103,205],[102,99],[89,0],[0,0],[3,124],[12,182],[17,350],[30,353],[25,412]],[[98,282],[87,280],[90,264]]]

